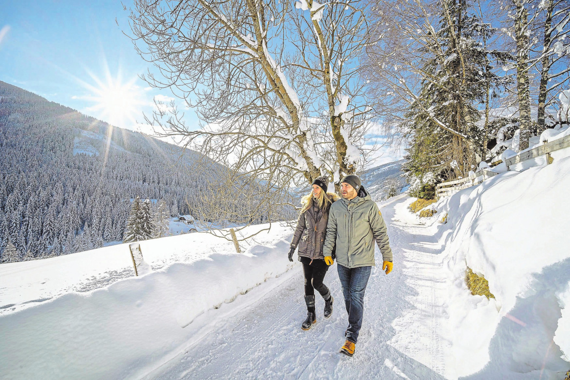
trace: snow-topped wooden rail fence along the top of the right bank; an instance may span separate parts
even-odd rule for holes
[[[532,160],[543,155],[546,155],[546,163],[552,164],[553,158],[550,153],[568,147],[570,147],[570,135],[564,136],[563,138],[554,140],[550,143],[544,142],[539,147],[520,152],[518,155],[507,158],[505,160],[505,164],[507,165],[507,170],[511,170],[511,167],[516,164],[522,163],[523,161]],[[536,166],[536,164],[531,166]],[[490,171],[485,168],[479,169],[477,172],[475,172],[475,174],[471,174],[468,177],[438,184],[435,188],[435,196],[447,197],[453,195],[460,190],[481,184],[484,180],[487,180],[498,174],[499,173]]]

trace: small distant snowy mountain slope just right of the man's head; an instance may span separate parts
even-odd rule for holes
[[[406,179],[402,177],[404,175],[402,164],[405,162],[406,160],[399,160],[383,164],[368,169],[360,175],[364,187],[368,190],[373,200],[381,201],[386,199],[388,191],[385,188],[385,182],[388,179],[394,179],[398,182],[398,193],[406,187]]]

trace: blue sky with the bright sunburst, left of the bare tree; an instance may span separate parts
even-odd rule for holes
[[[143,111],[152,111],[155,96],[172,94],[137,78],[149,65],[123,34],[128,11],[120,1],[0,0],[0,9],[0,80],[116,126],[150,132],[136,123],[144,123]],[[111,112],[109,102],[116,103]],[[127,115],[112,112],[119,107]],[[196,116],[189,119],[198,126]]]

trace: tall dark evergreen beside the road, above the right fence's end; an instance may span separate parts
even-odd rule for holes
[[[492,52],[481,43],[490,29],[468,13],[466,1],[441,4],[438,30],[422,48],[425,76],[420,94],[406,114],[412,138],[404,169],[414,176],[433,172],[446,180],[466,176],[481,160],[476,105],[484,102],[486,84],[496,77],[488,66]]]

